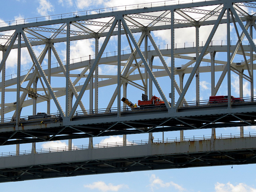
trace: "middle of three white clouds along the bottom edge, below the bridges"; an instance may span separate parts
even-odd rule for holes
[[[168,187],[174,187],[176,190],[178,190],[178,192],[184,192],[186,191],[186,189],[184,189],[182,186],[170,181],[170,182],[164,182],[163,180],[159,179],[158,177],[156,177],[155,174],[152,174],[150,176],[150,184],[149,184],[150,188],[152,191],[154,191],[154,189],[158,189],[158,188],[168,188]]]

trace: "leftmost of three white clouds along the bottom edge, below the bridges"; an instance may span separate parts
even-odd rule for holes
[[[93,184],[84,185],[84,187],[92,190],[98,189],[99,191],[107,192],[107,191],[119,191],[122,188],[128,188],[128,185],[125,185],[125,184],[113,185],[112,183],[106,184],[103,181],[97,181],[97,182],[94,182]]]

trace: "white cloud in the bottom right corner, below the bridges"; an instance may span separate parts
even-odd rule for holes
[[[233,185],[230,182],[227,184],[216,183],[215,184],[216,192],[256,192],[256,188],[252,188],[244,183],[239,183],[237,185]]]

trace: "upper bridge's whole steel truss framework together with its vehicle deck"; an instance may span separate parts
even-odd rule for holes
[[[255,3],[243,0],[213,0],[174,4],[173,1],[167,1],[141,4],[136,8],[106,8],[98,10],[97,13],[77,12],[63,14],[60,18],[48,16],[0,24],[0,48],[3,52],[0,63],[1,144],[218,126],[254,126],[253,61],[256,46],[252,36],[256,29],[256,15],[248,13],[248,8],[250,11],[255,10]],[[227,41],[225,44],[213,45],[213,37],[221,24],[226,26]],[[212,28],[206,42],[201,44],[199,28],[202,26]],[[230,43],[230,26],[235,29],[235,45]],[[195,30],[195,44],[177,48],[175,30],[188,28]],[[156,37],[151,32],[158,30],[169,32],[169,47],[160,49],[156,44]],[[114,36],[116,38],[113,38]],[[101,38],[104,40],[99,43]],[[88,59],[81,57],[79,62],[74,62],[73,58],[70,58],[70,43],[82,40],[94,41],[94,55],[88,56]],[[61,50],[58,50],[58,45],[63,46],[63,42],[66,47],[65,61],[62,61]],[[112,46],[112,42],[117,45],[117,51],[114,50],[114,55],[108,56],[106,48]],[[128,46],[129,53],[124,54],[124,44]],[[36,54],[38,47],[41,51]],[[18,50],[17,75],[8,79],[6,62],[14,49]],[[28,72],[22,75],[24,49],[28,50],[31,65]],[[226,53],[226,56],[222,60],[215,60],[216,53],[221,52]],[[234,62],[237,57],[243,58],[243,61]],[[160,60],[156,65],[154,58]],[[170,59],[169,66],[166,59]],[[183,61],[182,66],[179,65],[180,62],[176,64],[178,59]],[[53,61],[57,62],[56,67],[52,67]],[[208,62],[210,66],[200,66],[202,62]],[[44,66],[44,63],[48,65]],[[99,74],[102,65],[114,66],[117,75]],[[210,74],[212,96],[218,93],[221,85],[226,87],[228,103],[219,106],[218,109],[222,111],[209,112],[214,107],[207,106],[207,102],[204,103],[207,106],[205,108],[200,105],[200,75],[206,72]],[[216,72],[220,72],[220,75],[217,76]],[[240,97],[243,96],[243,80],[250,83],[248,103],[233,105],[231,72],[240,78]],[[188,74],[186,80],[185,74]],[[160,77],[168,77],[171,102],[168,102],[166,92],[164,93],[159,84]],[[225,78],[227,82],[224,82]],[[188,94],[189,88],[194,86],[193,80],[196,82],[194,106],[189,102],[192,99]],[[109,93],[112,94],[110,100],[99,101],[99,88],[112,85],[115,85],[116,89]],[[135,91],[139,90],[147,95],[152,95],[155,88],[164,100],[166,108],[160,110],[157,115],[155,112],[145,112],[148,114],[147,117],[143,116],[144,112],[126,113],[127,109],[122,106],[120,100],[122,96],[126,97],[127,86],[132,86]],[[7,92],[15,92],[16,100],[6,102]],[[89,109],[86,109],[84,98],[89,98]],[[36,114],[36,106],[41,102],[47,103],[48,113],[53,108],[51,103],[54,103],[54,108],[57,108],[60,114],[58,122],[53,123],[49,120],[45,127],[35,121],[22,122],[22,109],[32,106],[33,112],[27,115]],[[98,106],[104,106],[104,112],[109,114],[107,118],[104,118],[104,114],[101,116]],[[110,113],[113,108],[116,110]],[[191,111],[198,110],[201,111],[190,117]],[[82,118],[77,115],[78,111],[84,115]],[[5,114],[11,112],[13,114],[10,122],[10,119],[5,118]],[[136,120],[137,114],[140,115],[139,120]],[[158,120],[152,120],[154,118]],[[223,124],[215,125],[215,122]]]

